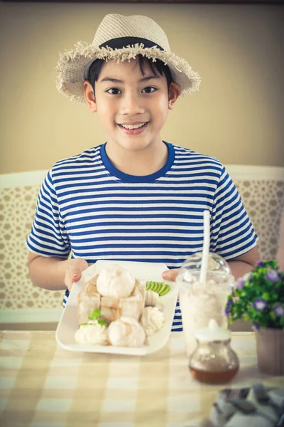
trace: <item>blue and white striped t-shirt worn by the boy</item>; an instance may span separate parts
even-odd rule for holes
[[[204,209],[211,213],[210,251],[231,260],[256,246],[239,193],[219,160],[165,144],[165,166],[147,176],[116,169],[106,144],[56,162],[38,195],[28,249],[62,258],[72,251],[72,258],[88,263],[132,260],[179,268],[202,251]],[[182,330],[179,306],[173,330]]]

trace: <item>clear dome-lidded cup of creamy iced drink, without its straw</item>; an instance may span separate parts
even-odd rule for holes
[[[200,282],[202,253],[191,255],[180,268],[176,279],[179,287],[182,329],[187,355],[195,348],[195,333],[205,328],[210,319],[227,327],[224,308],[234,286],[229,264],[217,253],[209,252],[206,280]]]

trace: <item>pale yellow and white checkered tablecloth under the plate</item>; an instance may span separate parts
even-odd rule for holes
[[[61,349],[55,332],[1,332],[1,427],[202,426],[222,386],[188,371],[182,333],[146,357]],[[256,367],[253,333],[232,334],[241,370],[232,387],[283,384]]]

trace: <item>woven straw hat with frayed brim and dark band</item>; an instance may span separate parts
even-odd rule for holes
[[[60,53],[57,88],[71,100],[85,102],[83,81],[89,66],[96,59],[131,60],[137,55],[155,61],[162,60],[182,88],[182,95],[194,93],[200,85],[200,75],[185,59],[170,51],[168,38],[158,23],[147,16],[109,14],[99,24],[92,44],[78,42],[71,51]]]

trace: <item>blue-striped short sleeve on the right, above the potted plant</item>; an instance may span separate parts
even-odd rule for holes
[[[226,260],[250,251],[258,237],[231,177],[222,167],[211,216],[210,251]]]

